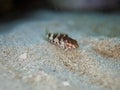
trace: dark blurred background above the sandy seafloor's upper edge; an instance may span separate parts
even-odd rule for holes
[[[17,19],[38,9],[118,12],[120,0],[0,0],[0,21]]]

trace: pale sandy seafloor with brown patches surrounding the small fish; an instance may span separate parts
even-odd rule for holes
[[[42,10],[0,30],[0,90],[120,90],[119,13]],[[50,44],[46,30],[79,48]]]

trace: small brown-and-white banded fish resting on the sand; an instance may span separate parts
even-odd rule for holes
[[[59,46],[65,50],[78,48],[79,45],[75,39],[72,39],[67,34],[62,33],[48,33],[47,39],[50,43]]]

